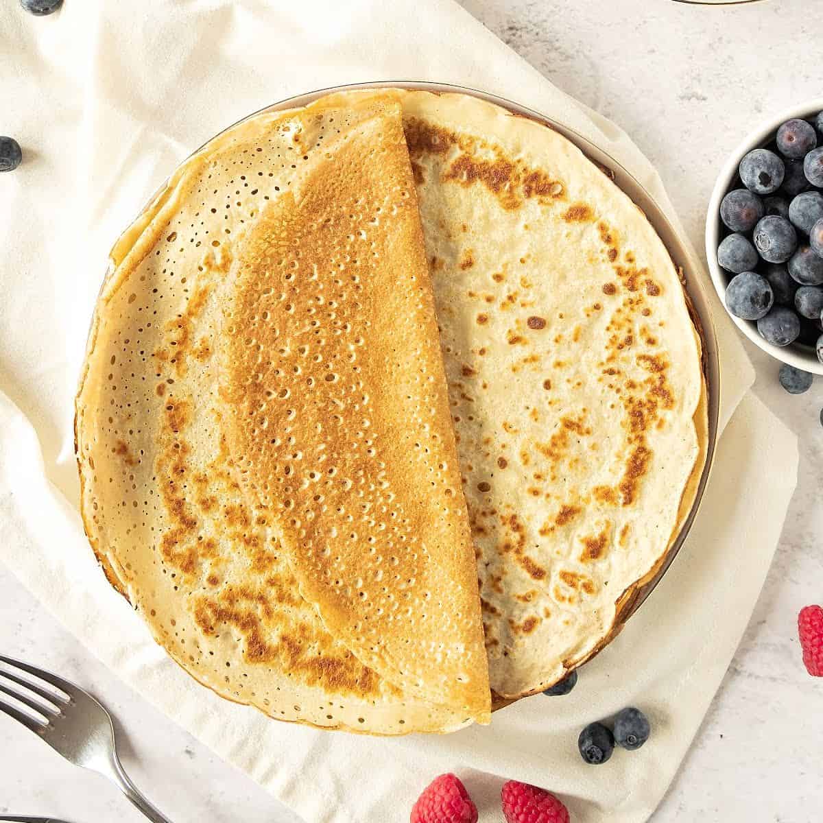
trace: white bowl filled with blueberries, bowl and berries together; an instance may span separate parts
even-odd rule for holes
[[[714,186],[706,257],[751,342],[823,374],[823,100],[749,134]]]

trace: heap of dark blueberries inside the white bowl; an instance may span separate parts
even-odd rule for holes
[[[775,346],[814,346],[823,363],[823,112],[783,123],[743,156],[720,203],[730,314]],[[742,184],[742,187],[741,187]]]

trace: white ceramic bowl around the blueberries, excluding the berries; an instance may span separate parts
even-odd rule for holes
[[[723,200],[723,196],[728,192],[729,188],[731,188],[732,182],[737,176],[737,166],[740,165],[740,161],[748,151],[765,146],[774,140],[774,135],[777,133],[781,123],[785,123],[786,120],[792,119],[793,117],[805,120],[815,116],[820,111],[823,111],[823,99],[811,100],[811,102],[797,105],[792,109],[786,109],[780,112],[775,117],[766,120],[765,123],[761,123],[753,132],[748,133],[723,164],[723,169],[720,171],[717,182],[714,184],[714,191],[709,200],[709,213],[706,216],[706,259],[709,263],[709,273],[712,276],[714,288],[724,308],[726,306],[725,294],[728,284],[728,274],[718,266],[717,258],[718,244],[720,243],[720,238],[723,236],[723,225],[720,222],[720,201]],[[777,360],[782,360],[783,363],[796,366],[798,369],[811,371],[814,374],[823,374],[823,363],[817,360],[815,351],[810,346],[802,346],[797,343],[792,343],[789,346],[774,346],[772,343],[765,342],[765,340],[760,337],[760,334],[757,332],[756,323],[751,320],[742,320],[735,317],[728,309],[726,310],[728,316],[735,325],[737,325],[737,328],[739,328],[751,342],[772,357]]]

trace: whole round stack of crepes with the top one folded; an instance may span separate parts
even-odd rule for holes
[[[373,734],[488,723],[611,639],[694,501],[677,271],[540,123],[402,90],[258,114],[111,257],[86,531],[229,700]]]

